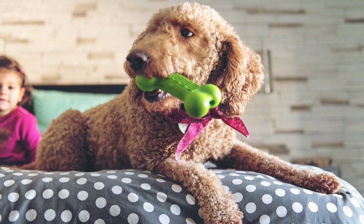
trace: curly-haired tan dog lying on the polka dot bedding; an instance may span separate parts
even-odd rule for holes
[[[212,119],[180,154],[179,124],[164,114],[182,102],[161,91],[145,93],[135,76],[166,78],[174,72],[222,92],[224,118],[240,116],[263,83],[260,57],[245,46],[215,10],[197,3],[161,9],[134,42],[125,62],[131,78],[114,100],[86,112],[68,110],[44,132],[36,161],[23,168],[93,171],[136,168],[159,172],[180,182],[198,200],[205,223],[242,223],[243,214],[219,178],[203,167],[247,169],[322,193],[340,183],[331,174],[299,169],[236,140],[231,127]]]

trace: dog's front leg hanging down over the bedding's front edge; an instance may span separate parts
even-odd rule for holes
[[[220,179],[202,164],[168,159],[159,172],[181,183],[198,201],[205,224],[242,224],[243,214]]]

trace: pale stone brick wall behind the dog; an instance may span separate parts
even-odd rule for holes
[[[364,1],[197,0],[271,51],[271,94],[243,119],[248,143],[286,160],[331,158],[364,194]],[[126,54],[180,0],[0,0],[0,54],[33,84],[122,84]],[[264,59],[266,60],[266,59]]]

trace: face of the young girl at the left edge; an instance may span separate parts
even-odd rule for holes
[[[0,69],[0,116],[6,115],[17,107],[23,98],[25,88],[21,88],[17,72]]]

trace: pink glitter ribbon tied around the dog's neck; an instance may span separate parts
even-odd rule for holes
[[[197,137],[197,135],[203,130],[203,128],[214,119],[221,119],[227,125],[239,131],[246,137],[249,137],[249,132],[242,119],[238,116],[233,118],[227,118],[221,115],[218,107],[211,109],[204,117],[193,117],[188,115],[185,111],[175,109],[170,113],[163,113],[168,119],[177,123],[186,123],[188,128],[184,133],[180,143],[177,146],[175,160],[180,164],[179,154],[183,152],[188,145]]]

